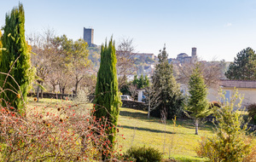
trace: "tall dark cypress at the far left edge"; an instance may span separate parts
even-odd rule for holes
[[[23,5],[12,9],[6,14],[5,26],[3,26],[3,50],[0,72],[9,73],[15,80],[6,75],[1,75],[1,87],[3,106],[12,106],[25,112],[24,101],[28,92],[30,81],[30,54],[26,47],[25,39],[25,14]],[[6,82],[4,82],[6,80]],[[15,83],[17,82],[17,84]],[[20,86],[20,88],[19,88]],[[15,92],[15,93],[14,93]],[[6,103],[8,102],[8,105]]]

